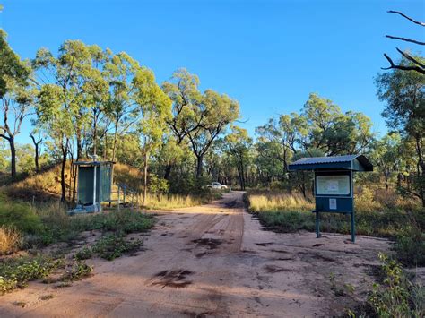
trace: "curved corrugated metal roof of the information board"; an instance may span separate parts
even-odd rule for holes
[[[363,155],[301,158],[288,166],[290,170],[343,169],[373,171],[373,165]]]

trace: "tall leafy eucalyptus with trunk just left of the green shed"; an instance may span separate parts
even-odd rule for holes
[[[39,82],[39,123],[61,150],[61,200],[65,201],[66,159],[76,145],[76,159],[82,157],[87,131],[91,130],[91,111],[108,91],[97,67],[100,48],[87,46],[79,40],[67,40],[59,47],[57,57],[45,48],[39,49],[33,65]],[[93,124],[94,133],[96,125]]]

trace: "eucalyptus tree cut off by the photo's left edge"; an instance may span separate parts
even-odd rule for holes
[[[30,64],[23,62],[9,47],[0,29],[0,110],[3,113],[0,137],[9,143],[11,176],[16,176],[15,137],[21,133],[23,120],[30,115],[35,99]]]

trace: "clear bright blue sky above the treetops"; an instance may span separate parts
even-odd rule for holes
[[[298,111],[310,92],[343,111],[369,116],[385,132],[374,77],[423,28],[386,13],[425,21],[423,1],[96,1],[0,0],[0,27],[13,49],[32,58],[65,39],[126,51],[158,82],[186,67],[201,88],[238,99],[240,124],[254,133],[269,117]],[[412,49],[418,47],[412,46]],[[18,142],[30,142],[27,122]]]

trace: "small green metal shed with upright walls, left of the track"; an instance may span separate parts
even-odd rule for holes
[[[112,161],[77,161],[77,210],[101,211],[101,202],[110,202]]]

